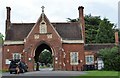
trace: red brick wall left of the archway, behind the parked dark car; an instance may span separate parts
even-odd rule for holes
[[[21,53],[21,59],[23,58],[23,45],[4,45],[3,52],[2,52],[2,68],[3,70],[8,70],[9,64],[6,64],[7,60],[13,59],[13,53]]]

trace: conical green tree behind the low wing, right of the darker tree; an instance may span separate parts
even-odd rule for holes
[[[97,43],[114,43],[114,24],[111,24],[108,19],[101,20],[99,29],[96,35]]]

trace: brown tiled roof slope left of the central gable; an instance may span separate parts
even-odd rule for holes
[[[7,31],[6,40],[21,41],[29,34],[35,23],[12,23]]]

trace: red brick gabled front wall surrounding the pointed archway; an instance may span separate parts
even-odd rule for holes
[[[47,33],[40,33],[40,23],[42,21],[42,18],[40,18],[31,32],[28,34],[28,36],[25,39],[25,45],[24,48],[27,52],[27,57],[25,61],[29,65],[29,70],[32,71],[34,67],[34,56],[35,56],[35,50],[36,48],[41,45],[42,43],[47,44],[52,49],[52,54],[54,56],[54,68],[55,70],[61,69],[61,66],[59,64],[59,55],[58,53],[61,51],[62,48],[62,42],[61,37],[58,35],[54,27],[50,24],[47,18],[44,18],[44,21],[46,22],[47,26]],[[28,58],[32,58],[32,61],[28,61]],[[55,58],[58,58],[58,60],[55,60]],[[57,63],[55,63],[57,61]]]

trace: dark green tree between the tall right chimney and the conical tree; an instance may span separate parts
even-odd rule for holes
[[[96,43],[96,34],[99,28],[100,16],[85,15],[86,43]]]

